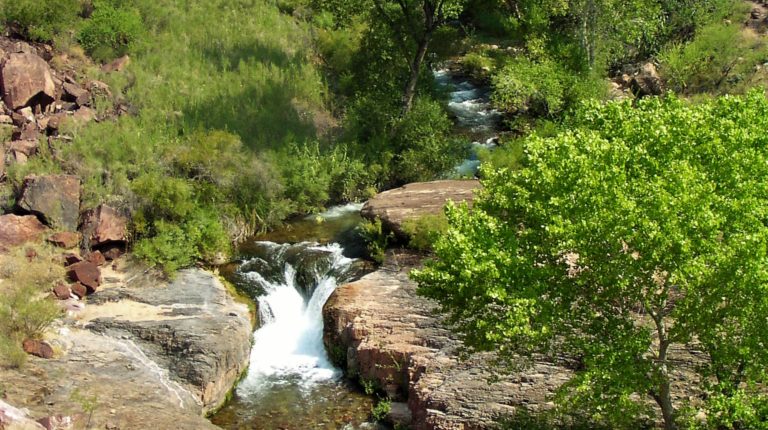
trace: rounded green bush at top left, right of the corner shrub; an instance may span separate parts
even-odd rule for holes
[[[106,1],[97,1],[94,6],[93,15],[78,34],[86,52],[96,60],[108,61],[132,51],[145,32],[138,10]]]

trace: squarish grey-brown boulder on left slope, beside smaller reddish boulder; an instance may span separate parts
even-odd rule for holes
[[[80,178],[73,175],[28,176],[24,178],[18,205],[38,215],[51,227],[75,231],[80,216]]]

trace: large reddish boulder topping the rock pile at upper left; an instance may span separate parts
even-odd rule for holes
[[[30,52],[8,56],[2,65],[0,84],[3,100],[11,110],[34,105],[45,107],[56,96],[51,68],[45,60]]]

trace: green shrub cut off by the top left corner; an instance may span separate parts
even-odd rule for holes
[[[82,10],[80,0],[5,0],[0,16],[6,26],[31,40],[50,42],[75,25]]]

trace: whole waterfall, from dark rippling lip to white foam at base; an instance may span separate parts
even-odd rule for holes
[[[344,257],[338,244],[260,242],[258,248],[260,255],[239,269],[262,294],[261,327],[238,394],[258,395],[284,384],[311,388],[338,378],[323,345],[322,309],[337,285],[350,279],[355,260]]]

